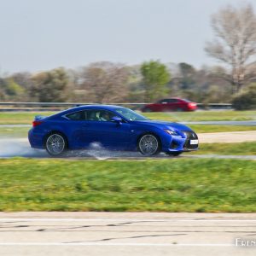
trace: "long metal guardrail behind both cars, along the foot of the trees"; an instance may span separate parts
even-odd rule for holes
[[[55,111],[80,105],[99,104],[96,102],[0,102],[0,111]],[[142,108],[145,102],[119,102],[109,105],[126,106],[132,109]],[[230,103],[197,103],[201,109],[232,109]]]

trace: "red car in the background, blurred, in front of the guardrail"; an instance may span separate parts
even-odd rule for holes
[[[171,98],[163,99],[153,104],[147,104],[142,108],[142,112],[165,112],[165,111],[195,111],[197,105],[189,100]]]

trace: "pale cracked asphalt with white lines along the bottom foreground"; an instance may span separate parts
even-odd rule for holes
[[[1,212],[0,255],[255,255],[256,213]]]

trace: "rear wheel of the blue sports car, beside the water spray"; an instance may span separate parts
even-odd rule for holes
[[[61,156],[67,150],[67,141],[60,133],[53,133],[47,137],[45,148],[51,156]]]

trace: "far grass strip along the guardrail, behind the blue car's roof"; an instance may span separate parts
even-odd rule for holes
[[[31,124],[35,115],[49,115],[54,112],[15,112],[0,113],[0,125]],[[168,121],[209,121],[209,120],[252,120],[256,119],[256,111],[196,111],[196,112],[171,112],[171,113],[143,113],[150,119]]]

